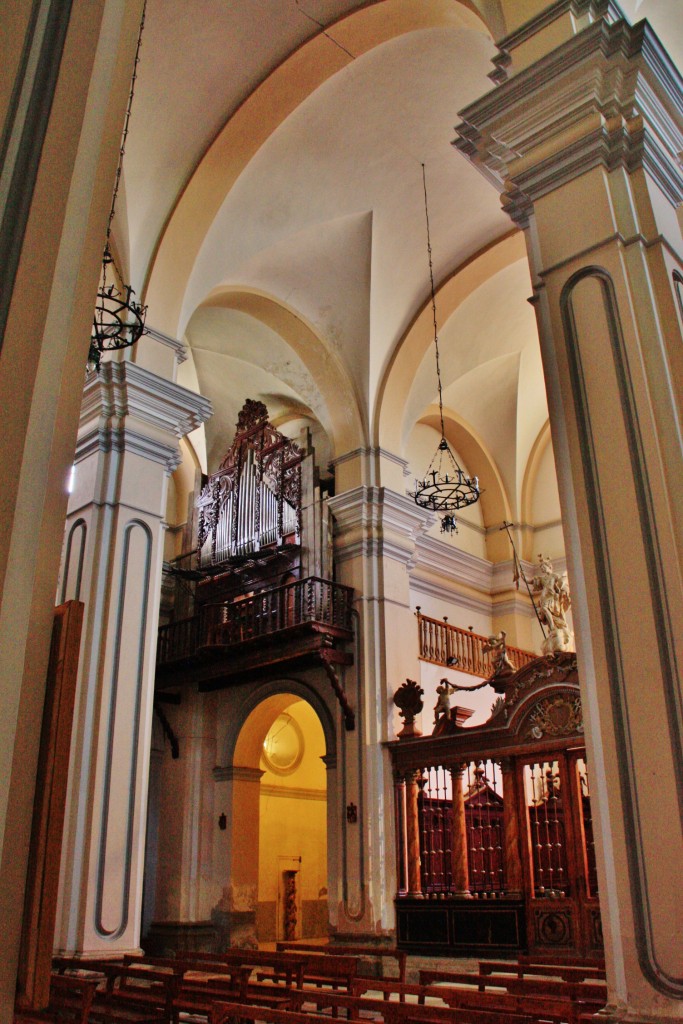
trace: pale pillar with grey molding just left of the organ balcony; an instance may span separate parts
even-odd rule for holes
[[[139,945],[167,476],[209,402],[136,364],[85,385],[60,599],[85,603],[55,944]]]

